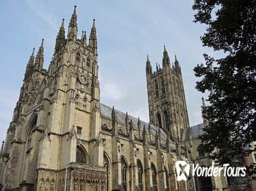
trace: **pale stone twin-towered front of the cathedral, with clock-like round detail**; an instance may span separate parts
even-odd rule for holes
[[[67,38],[62,20],[49,70],[44,41],[36,58],[33,50],[5,142],[5,190],[64,190],[65,173],[69,180],[81,173],[76,162],[97,177],[93,188],[104,187],[96,31],[93,20],[89,43],[85,32],[77,38],[75,6]]]

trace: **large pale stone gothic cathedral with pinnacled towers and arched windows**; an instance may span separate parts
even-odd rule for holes
[[[225,175],[177,181],[176,161],[212,161],[197,150],[207,121],[190,127],[181,66],[166,47],[155,71],[145,63],[149,122],[101,103],[95,20],[89,40],[78,38],[76,6],[48,70],[44,40],[34,51],[1,147],[1,190],[231,190]]]

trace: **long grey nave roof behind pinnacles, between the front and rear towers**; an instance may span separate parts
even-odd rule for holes
[[[101,116],[103,117],[107,117],[112,119],[112,107],[107,106],[105,104],[101,104]],[[118,111],[116,109],[114,109],[115,113],[116,113],[116,119],[119,123],[125,123],[125,117],[126,117],[126,113],[123,113],[121,111]],[[132,125],[133,128],[137,128],[138,129],[138,119],[135,117],[132,117],[131,115],[128,115],[128,121],[132,121]],[[149,131],[149,123],[146,123],[142,120],[140,120],[140,130],[143,131],[143,126],[146,127],[146,131]],[[151,134],[155,135],[156,130],[161,130],[161,134],[162,134],[162,138],[166,139],[166,133],[164,132],[164,130],[157,128],[155,126],[153,126],[152,124],[150,124],[151,126]]]

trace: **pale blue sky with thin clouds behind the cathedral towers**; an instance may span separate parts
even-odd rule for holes
[[[175,55],[183,74],[190,126],[202,123],[201,97],[193,68],[203,62],[200,37],[205,26],[193,23],[194,1],[170,0],[20,0],[0,1],[0,141],[5,140],[25,68],[32,49],[44,38],[44,68],[48,69],[62,18],[68,23],[77,5],[78,36],[95,18],[98,40],[101,102],[149,121],[146,91],[146,55],[151,65],[162,65],[164,45],[170,61]],[[206,97],[205,97],[206,98]]]

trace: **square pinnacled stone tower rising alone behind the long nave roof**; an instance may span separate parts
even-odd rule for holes
[[[162,68],[156,64],[152,71],[149,56],[146,61],[146,85],[149,101],[149,121],[166,130],[171,138],[180,140],[181,130],[188,128],[188,111],[179,61],[170,66],[170,58],[164,46]]]

